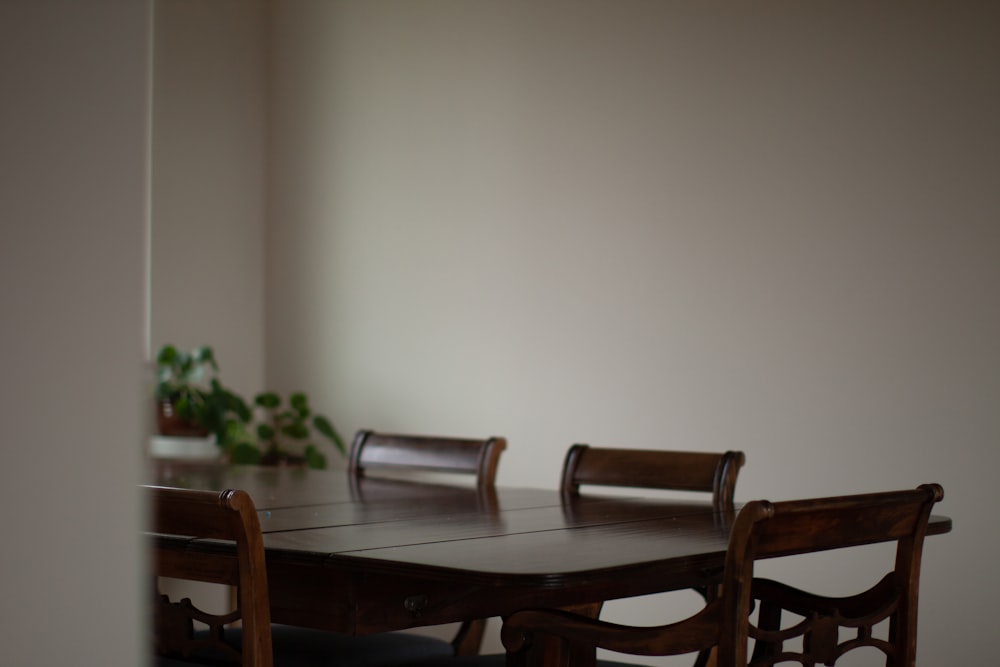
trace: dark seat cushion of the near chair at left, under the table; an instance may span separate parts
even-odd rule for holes
[[[233,646],[241,640],[239,628],[226,632],[226,641]],[[399,667],[415,661],[455,660],[447,640],[405,632],[354,637],[272,624],[271,641],[275,667]]]

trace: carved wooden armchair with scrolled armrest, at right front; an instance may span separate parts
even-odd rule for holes
[[[923,541],[931,509],[943,496],[939,485],[925,484],[907,491],[747,503],[730,532],[719,595],[697,613],[668,625],[630,627],[560,610],[517,612],[501,632],[506,664],[535,664],[536,649],[545,647],[555,659],[547,664],[590,667],[599,647],[644,656],[715,648],[719,667],[834,665],[845,653],[866,648],[881,652],[886,665],[913,667]],[[760,559],[878,542],[895,542],[895,559],[890,571],[861,593],[830,597],[754,578]],[[783,624],[782,611],[794,619]]]

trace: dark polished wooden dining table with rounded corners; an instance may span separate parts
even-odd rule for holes
[[[573,607],[703,586],[722,572],[732,513],[706,499],[584,495],[341,470],[161,461],[149,482],[243,489],[264,532],[272,620],[352,634]],[[935,516],[931,533],[950,530]],[[192,563],[232,545],[176,538]]]

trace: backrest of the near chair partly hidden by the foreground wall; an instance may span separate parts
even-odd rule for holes
[[[149,532],[152,539],[152,573],[155,576],[190,579],[237,587],[237,608],[226,614],[211,614],[189,599],[171,602],[165,595],[154,599],[154,641],[160,655],[185,658],[202,655],[230,660],[245,667],[271,667],[271,616],[267,572],[260,522],[253,500],[244,491],[191,491],[145,486],[150,502]],[[203,554],[189,548],[178,557],[166,542],[180,538],[209,538],[236,543],[231,552],[206,549]],[[207,633],[194,633],[193,621],[209,626]],[[240,621],[242,652],[222,641],[223,627]]]

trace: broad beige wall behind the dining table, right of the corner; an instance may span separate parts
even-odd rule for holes
[[[269,381],[505,435],[503,484],[576,441],[941,482],[921,662],[988,661],[998,15],[928,5],[275,3]]]

